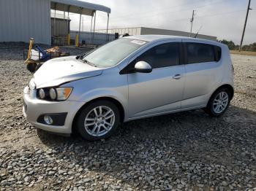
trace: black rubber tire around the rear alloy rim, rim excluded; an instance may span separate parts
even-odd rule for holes
[[[222,93],[222,92],[227,93],[227,97],[228,97],[227,106],[225,107],[225,109],[222,112],[215,112],[215,110],[214,110],[214,100],[215,100],[215,98],[217,98],[217,95],[219,95],[219,93]],[[231,101],[230,90],[228,90],[225,87],[219,88],[218,90],[216,90],[214,92],[213,95],[211,95],[211,98],[208,101],[208,104],[207,104],[206,108],[204,109],[204,111],[207,114],[209,114],[211,117],[219,117],[227,111],[228,107],[230,106],[230,101]]]

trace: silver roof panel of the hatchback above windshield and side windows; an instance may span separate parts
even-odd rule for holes
[[[129,39],[138,39],[148,42],[157,42],[161,40],[172,40],[172,39],[181,39],[181,40],[192,40],[193,42],[200,42],[200,43],[208,43],[208,44],[218,44],[221,45],[222,43],[219,43],[217,41],[212,40],[206,40],[206,39],[197,39],[197,38],[191,38],[187,36],[171,36],[171,35],[135,35],[135,36],[127,36],[125,38]]]

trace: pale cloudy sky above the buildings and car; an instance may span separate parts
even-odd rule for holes
[[[83,1],[83,0],[82,0]],[[85,1],[85,0],[84,0]],[[86,0],[111,8],[110,28],[150,27],[177,31],[190,30],[195,9],[193,32],[217,36],[240,43],[248,0]],[[252,0],[244,44],[256,42],[256,0]],[[78,15],[70,15],[71,29],[78,30]],[[91,18],[83,16],[83,29],[89,30]],[[107,15],[97,12],[97,29],[106,28]]]

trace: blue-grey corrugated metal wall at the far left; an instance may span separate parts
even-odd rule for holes
[[[50,44],[50,0],[0,0],[0,42]]]

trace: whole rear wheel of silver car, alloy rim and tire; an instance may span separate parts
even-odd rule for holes
[[[230,98],[230,90],[220,88],[211,96],[205,109],[206,113],[210,114],[211,117],[219,117],[224,114],[230,105]]]

